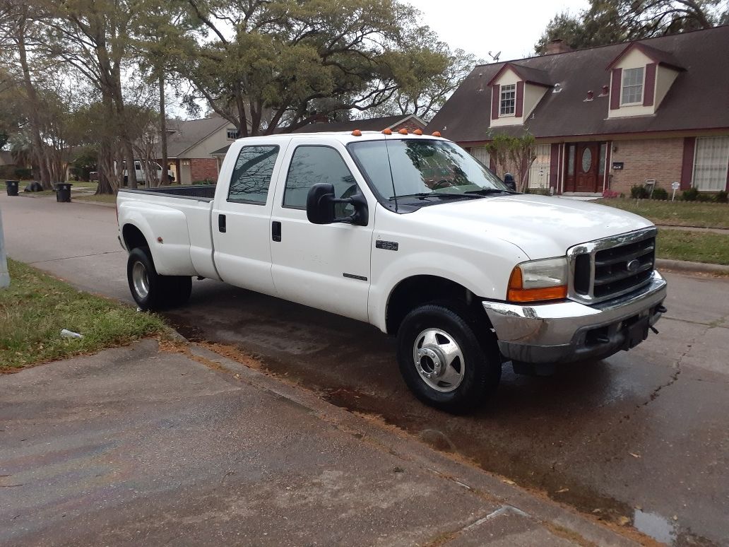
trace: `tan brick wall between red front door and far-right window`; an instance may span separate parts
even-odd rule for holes
[[[640,141],[613,141],[610,164],[624,163],[622,171],[611,170],[610,189],[630,195],[631,186],[643,185],[655,179],[655,186],[671,193],[671,182],[681,180],[683,139],[644,139]]]

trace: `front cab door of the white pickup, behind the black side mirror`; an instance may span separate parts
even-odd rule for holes
[[[367,321],[375,203],[368,203],[367,226],[311,224],[306,197],[312,185],[329,182],[336,197],[347,198],[364,187],[364,180],[339,141],[309,143],[309,139],[292,140],[276,188],[271,217],[273,284],[286,300]],[[336,215],[345,217],[352,211],[351,206],[340,205]]]

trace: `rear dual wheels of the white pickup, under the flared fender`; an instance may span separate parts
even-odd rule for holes
[[[127,280],[132,298],[143,310],[181,306],[190,298],[190,276],[160,276],[146,247],[136,247],[127,260]]]

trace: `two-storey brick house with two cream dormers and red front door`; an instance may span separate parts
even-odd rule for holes
[[[529,187],[729,189],[729,26],[476,66],[427,131],[495,168],[494,133],[537,141]],[[513,171],[512,171],[513,173]],[[499,173],[501,174],[501,173]]]

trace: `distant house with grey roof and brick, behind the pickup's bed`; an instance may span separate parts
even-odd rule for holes
[[[167,132],[169,168],[183,185],[204,179],[217,181],[218,162],[211,158],[211,152],[238,138],[235,126],[217,115],[200,120],[170,120]],[[162,159],[158,158],[157,163],[161,165]]]

